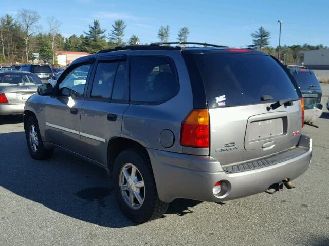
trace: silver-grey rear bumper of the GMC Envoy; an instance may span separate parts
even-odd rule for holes
[[[224,172],[220,163],[210,156],[193,156],[148,149],[160,200],[175,198],[220,202],[245,197],[269,189],[286,178],[293,180],[309,167],[312,139],[302,135],[297,148],[307,151],[276,165],[239,173]],[[220,198],[213,195],[217,181],[225,180],[227,192]]]

